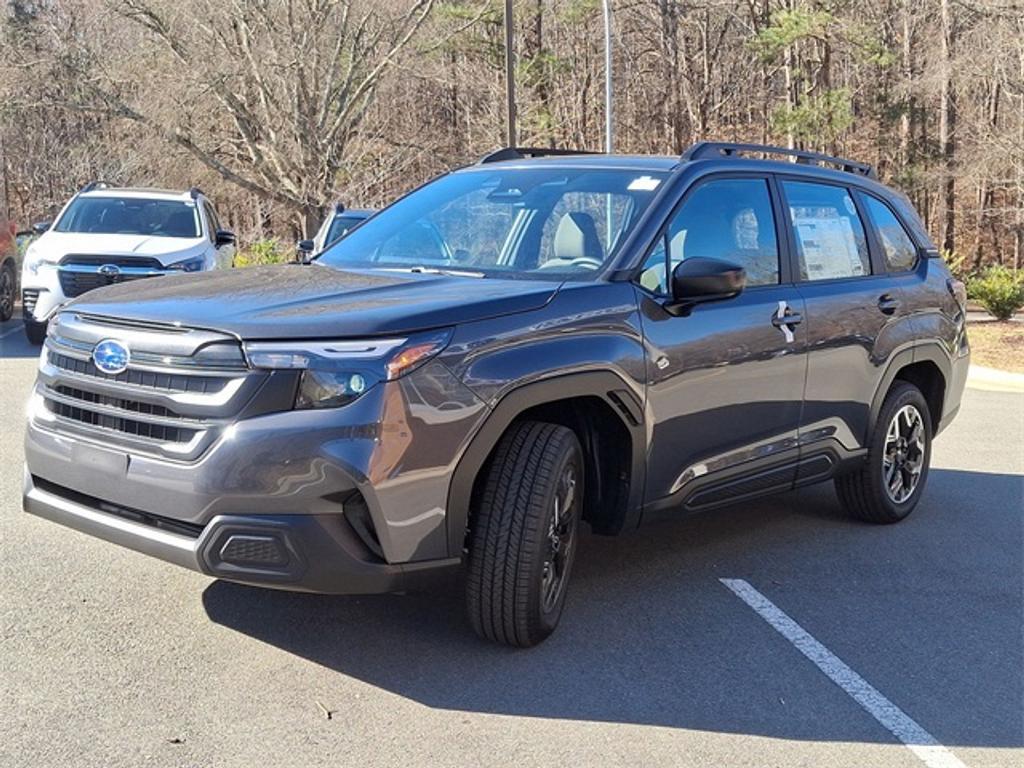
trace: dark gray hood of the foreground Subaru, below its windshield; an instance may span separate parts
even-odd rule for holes
[[[91,291],[68,306],[242,339],[351,338],[538,309],[558,285],[290,264],[134,281]]]

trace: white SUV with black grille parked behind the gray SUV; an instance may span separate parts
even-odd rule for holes
[[[46,322],[93,288],[161,274],[231,266],[234,233],[199,189],[85,186],[25,255],[22,305],[29,341],[41,344]]]

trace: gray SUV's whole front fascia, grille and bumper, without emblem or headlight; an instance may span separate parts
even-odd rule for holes
[[[131,349],[118,374],[91,361],[108,337]],[[289,589],[386,592],[461,558],[450,482],[484,402],[431,360],[343,408],[292,410],[296,377],[239,365],[237,344],[60,313],[29,404],[26,509]]]

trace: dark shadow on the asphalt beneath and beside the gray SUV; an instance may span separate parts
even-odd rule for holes
[[[1020,509],[1005,507],[1020,493],[1019,476],[933,470],[921,508],[897,526],[849,520],[826,485],[618,539],[587,537],[561,626],[529,650],[477,640],[459,590],[332,597],[214,582],[203,602],[219,625],[432,708],[891,742],[718,581],[741,578],[782,598],[911,716],[928,715],[923,724],[942,743],[1020,746],[1020,590],[1007,585],[1016,597],[1009,607],[996,601],[987,623],[934,602],[950,541],[992,543],[976,557],[1016,572],[1019,588]],[[921,571],[913,586],[887,589],[906,579],[908,559]],[[871,563],[873,572],[848,570]],[[861,583],[848,592],[851,579]],[[887,642],[904,632],[924,639]],[[991,645],[974,667],[968,641]],[[948,669],[933,679],[933,664]],[[962,708],[974,716],[961,717]]]

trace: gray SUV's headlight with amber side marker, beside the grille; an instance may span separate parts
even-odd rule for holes
[[[253,368],[301,370],[296,409],[347,406],[381,381],[393,381],[440,352],[451,331],[366,341],[252,342]]]

